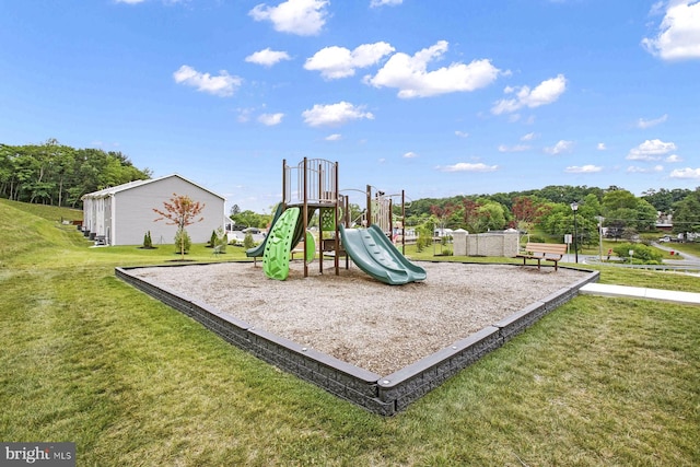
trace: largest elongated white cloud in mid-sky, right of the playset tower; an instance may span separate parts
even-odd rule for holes
[[[500,70],[490,60],[474,60],[469,65],[456,62],[434,71],[428,65],[447,51],[447,42],[419,50],[413,56],[394,54],[374,77],[364,82],[375,87],[396,87],[401,98],[430,97],[453,92],[468,92],[491,84]]]

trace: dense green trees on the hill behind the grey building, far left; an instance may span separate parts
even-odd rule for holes
[[[152,175],[121,152],[43,144],[0,143],[0,197],[40,205],[82,207],[82,196]]]

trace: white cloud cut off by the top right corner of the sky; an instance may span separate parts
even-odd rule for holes
[[[655,4],[652,13],[658,8]],[[700,58],[700,1],[669,1],[658,34],[643,38],[642,46],[663,60]]]

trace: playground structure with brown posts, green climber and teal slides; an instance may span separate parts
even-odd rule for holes
[[[268,235],[260,245],[249,248],[246,256],[261,256],[266,276],[285,280],[290,255],[296,245],[303,243],[304,277],[308,277],[308,264],[316,253],[308,224],[318,211],[320,273],[324,271],[324,256],[332,256],[336,276],[340,271],[340,257],[345,257],[346,269],[352,259],[362,271],[387,284],[424,280],[425,270],[406,259],[389,240],[393,233],[392,196],[380,190],[373,195],[372,187],[368,185],[366,209],[361,226],[354,227],[350,219],[349,197],[340,191],[337,162],[304,157],[296,166],[290,166],[283,160],[283,199],[275,212]],[[401,192],[402,213],[404,206],[405,195]]]

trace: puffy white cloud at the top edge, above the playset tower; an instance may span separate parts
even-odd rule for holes
[[[326,24],[328,3],[327,0],[287,0],[277,7],[260,3],[248,15],[255,21],[270,21],[280,33],[314,36]]]

